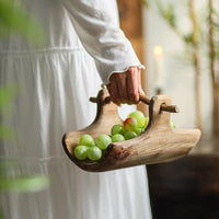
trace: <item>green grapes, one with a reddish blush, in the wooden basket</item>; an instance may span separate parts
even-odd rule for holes
[[[131,112],[122,124],[116,124],[111,129],[110,135],[101,135],[96,143],[90,135],[83,135],[79,140],[79,146],[74,149],[74,155],[78,160],[97,161],[104,154],[106,148],[112,142],[129,140],[139,136],[148,126],[149,117],[145,117],[140,111]],[[171,122],[172,127],[175,127]]]

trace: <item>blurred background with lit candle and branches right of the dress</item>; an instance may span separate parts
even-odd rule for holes
[[[189,155],[147,166],[154,219],[219,218],[219,2],[118,0],[141,62],[143,90],[172,96],[176,128],[199,128]],[[146,114],[148,108],[138,106]]]

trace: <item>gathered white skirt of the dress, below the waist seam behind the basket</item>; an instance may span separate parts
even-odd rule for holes
[[[16,92],[0,123],[14,131],[1,140],[1,162],[13,161],[7,177],[44,175],[37,192],[2,192],[8,219],[149,219],[145,166],[105,173],[80,170],[66,155],[65,132],[90,125],[101,89],[93,59],[81,49],[48,48],[0,54],[0,88]],[[130,111],[119,110],[122,117]]]

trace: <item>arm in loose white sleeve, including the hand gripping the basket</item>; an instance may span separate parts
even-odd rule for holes
[[[113,101],[116,104],[136,103],[140,90],[136,87],[140,83],[142,66],[130,42],[116,25],[113,14],[104,7],[106,0],[102,0],[101,4],[95,4],[94,0],[62,0],[62,3],[70,13],[81,43],[94,58],[103,82],[108,84]],[[122,83],[123,85],[118,87]],[[130,89],[130,84],[135,88]]]

